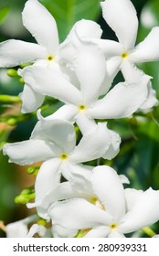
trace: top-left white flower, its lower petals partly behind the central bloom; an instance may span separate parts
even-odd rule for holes
[[[28,0],[22,12],[22,19],[23,25],[36,38],[37,43],[17,39],[2,42],[0,44],[0,67],[9,68],[27,62],[35,62],[35,65],[56,69],[69,79],[71,71],[62,65],[58,65],[59,39],[58,27],[54,17],[37,0]],[[94,34],[94,37],[101,37],[101,28],[93,21],[82,20],[81,25],[78,22],[74,29],[78,30],[82,37],[85,37],[85,34],[88,36]],[[69,52],[72,51],[72,48],[73,46],[70,43]],[[62,57],[62,53],[60,56]],[[43,95],[26,84],[24,91],[20,93],[20,98],[22,100],[22,112],[36,111],[44,101]]]

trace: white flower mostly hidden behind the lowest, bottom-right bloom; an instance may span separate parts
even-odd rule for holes
[[[70,182],[63,182],[56,187],[53,187],[42,200],[36,201],[35,203],[27,203],[27,208],[37,207],[38,216],[42,219],[50,220],[50,216],[48,216],[48,208],[57,201],[80,197],[89,202],[94,202],[96,194],[90,182],[92,179],[92,169],[94,167],[90,167],[91,172],[88,171],[88,167],[88,165],[82,167],[81,165],[77,165],[76,169],[72,172],[73,176]],[[130,184],[129,179],[126,176],[120,175],[119,178],[122,184]],[[54,227],[55,225],[53,225],[53,229]]]

